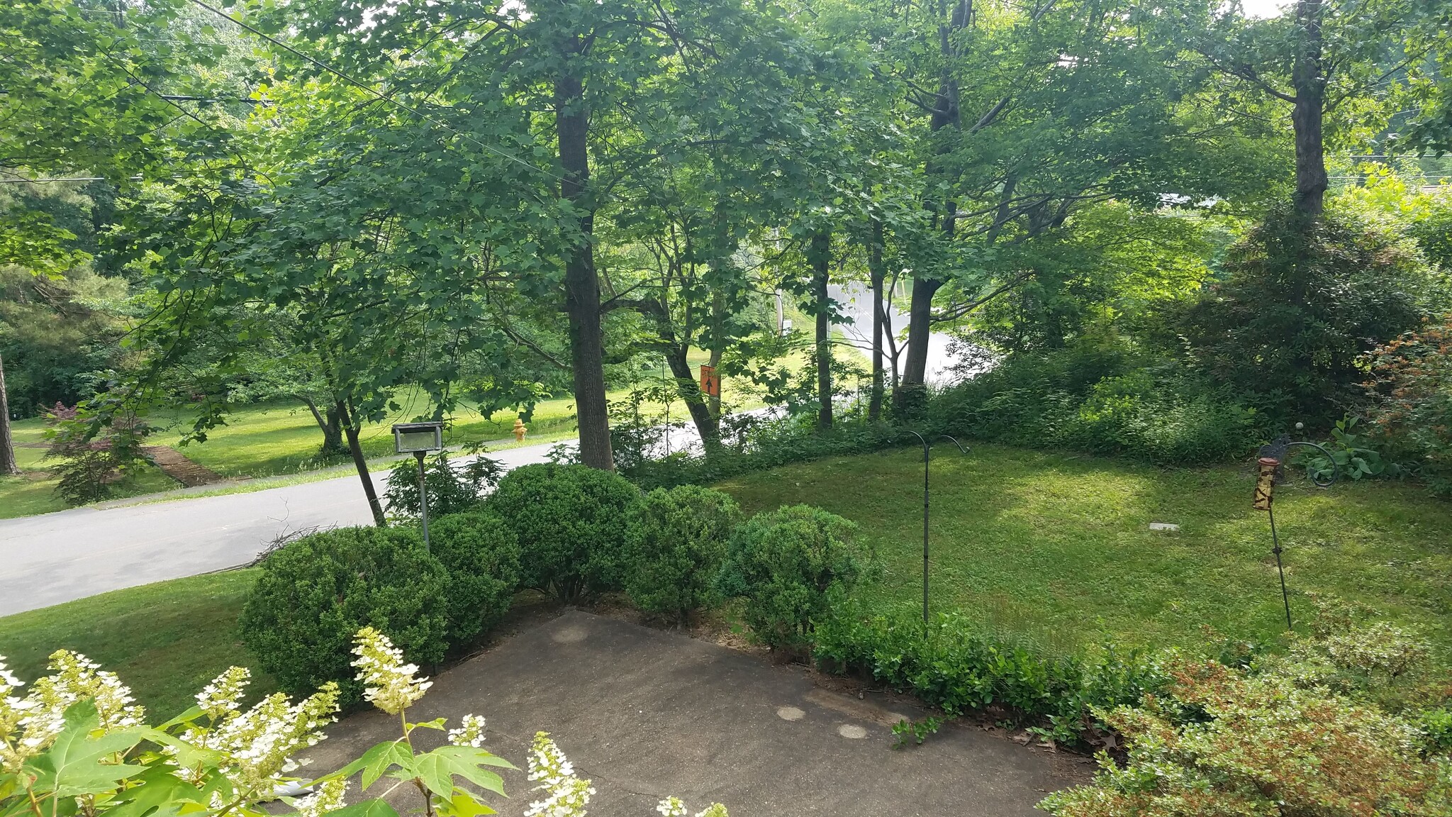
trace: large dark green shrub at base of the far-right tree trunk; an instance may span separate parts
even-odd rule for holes
[[[1363,403],[1368,352],[1440,302],[1416,246],[1350,217],[1272,212],[1179,318],[1196,365],[1281,422]]]

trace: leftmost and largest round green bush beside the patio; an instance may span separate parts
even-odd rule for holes
[[[353,635],[372,625],[417,664],[444,657],[444,566],[418,534],[398,528],[340,528],[267,557],[242,606],[242,641],[257,666],[290,693],[338,682],[344,704],[362,698],[353,679]]]

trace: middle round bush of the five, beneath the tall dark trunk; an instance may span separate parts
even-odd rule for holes
[[[520,541],[521,584],[562,600],[617,590],[626,574],[626,520],[640,491],[585,465],[540,462],[499,480],[485,509]]]

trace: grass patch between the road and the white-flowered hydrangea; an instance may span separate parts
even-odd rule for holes
[[[29,685],[55,650],[83,653],[119,675],[160,723],[227,667],[251,663],[237,616],[256,579],[256,568],[193,576],[4,616],[0,656]],[[253,672],[254,695],[273,689]]]

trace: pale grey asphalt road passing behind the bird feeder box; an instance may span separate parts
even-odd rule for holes
[[[508,468],[553,443],[491,452]],[[382,493],[388,472],[375,472]],[[0,615],[247,564],[280,535],[369,525],[356,474],[261,491],[0,520]]]

